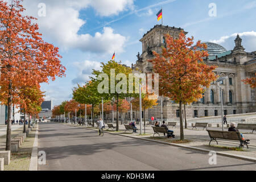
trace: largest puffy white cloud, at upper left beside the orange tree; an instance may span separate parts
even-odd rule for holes
[[[78,48],[96,53],[123,51],[125,36],[115,33],[110,27],[104,27],[102,32],[96,32],[94,36],[79,34],[80,28],[86,25],[86,20],[80,17],[80,10],[93,7],[101,16],[117,15],[131,9],[133,0],[46,0],[45,17],[38,16],[39,3],[40,0],[24,1],[26,13],[38,18],[40,32],[61,49]]]

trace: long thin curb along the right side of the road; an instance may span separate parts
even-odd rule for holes
[[[69,126],[72,126],[72,125],[69,125]],[[73,126],[73,127],[79,127],[79,126]],[[82,129],[82,127],[79,127],[79,128]],[[95,129],[89,129],[89,128],[84,128],[84,129],[96,131]],[[138,137],[133,137],[133,136],[129,136],[129,135],[111,133],[111,132],[108,132],[108,131],[104,131],[104,133],[108,133],[108,134],[112,134],[112,135],[119,135],[119,136],[122,136],[122,137],[129,137],[129,138],[134,138],[134,139],[146,140],[148,142],[168,144],[169,146],[181,147],[181,148],[186,148],[186,149],[189,149],[189,150],[196,150],[196,151],[200,151],[200,152],[204,152],[204,153],[211,152],[211,150],[207,150],[207,149],[203,149],[203,148],[197,148],[197,147],[191,147],[191,146],[184,146],[183,144],[168,143],[168,142],[162,142],[162,141],[152,140],[152,139],[147,139],[147,138],[138,138]],[[243,155],[226,154],[224,152],[216,152],[216,154],[220,155],[220,156],[225,156],[225,157],[228,157],[228,158],[241,159],[241,160],[246,160],[246,161],[249,161],[249,162],[256,163],[256,158],[251,158],[251,157],[247,157],[247,156],[243,156]]]

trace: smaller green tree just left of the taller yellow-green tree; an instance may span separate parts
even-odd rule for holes
[[[92,105],[92,122],[94,127],[94,109],[101,102],[101,97],[97,92],[97,83],[89,81],[84,86],[77,85],[77,87],[73,88],[73,99],[80,104]]]

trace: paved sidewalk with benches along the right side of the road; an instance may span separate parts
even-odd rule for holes
[[[75,126],[75,125],[73,125]],[[115,126],[115,125],[114,125]],[[77,126],[77,127],[83,127],[85,128],[85,126]],[[92,129],[92,127],[88,127],[88,129]],[[95,128],[94,128],[95,129]],[[154,135],[154,131],[152,130],[151,126],[150,127],[146,127],[146,134],[147,135],[139,135],[140,134],[140,127],[137,125],[137,129],[138,129],[138,133],[133,133],[131,134],[131,132],[129,133],[129,131],[125,132],[125,127],[123,125],[119,125],[119,130],[121,132],[117,133],[117,134],[122,134],[122,135],[126,135],[126,136],[133,136],[133,137],[138,137],[138,138],[146,138],[146,139],[156,139],[156,140],[160,140],[163,142],[169,142],[169,143],[173,143],[176,140],[179,140],[180,138],[180,128],[179,126],[177,126],[177,128],[172,129],[172,127],[170,127],[170,130],[174,131],[175,134],[175,138],[171,138],[171,139],[166,139],[166,137],[163,137],[163,134],[159,135],[155,135],[155,137],[153,138]],[[209,127],[208,129],[210,130],[221,130],[221,128],[216,128],[216,127]],[[112,130],[108,129],[108,126],[106,126],[106,131],[112,132]],[[225,128],[225,131],[227,131],[228,129]],[[143,126],[143,134],[144,134],[144,126]],[[230,154],[230,155],[241,155],[241,156],[247,156],[247,157],[251,157],[251,158],[256,158],[256,133],[251,134],[250,130],[240,130],[241,133],[243,133],[244,137],[246,139],[250,139],[250,144],[249,149],[242,148],[242,150],[231,150],[230,148],[227,147],[231,147],[231,148],[236,148],[239,146],[239,142],[237,141],[227,141],[227,140],[221,140],[221,139],[217,139],[218,144],[216,142],[212,142],[211,146],[209,146],[209,135],[208,132],[206,130],[203,131],[203,129],[199,128],[197,130],[192,130],[192,127],[189,126],[188,129],[184,129],[184,138],[186,140],[190,140],[191,142],[189,143],[182,143],[185,146],[189,146],[189,147],[196,147],[196,148],[202,148],[205,150],[210,150],[210,151],[216,151],[216,152],[224,152],[225,154]],[[115,133],[115,132],[113,132]]]

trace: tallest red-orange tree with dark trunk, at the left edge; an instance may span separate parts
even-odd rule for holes
[[[11,149],[11,105],[17,94],[13,88],[55,80],[65,72],[58,48],[44,42],[36,19],[26,16],[20,3],[0,1],[0,86],[8,85],[6,150]]]

